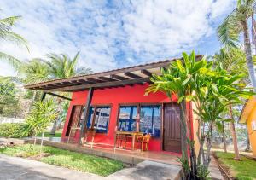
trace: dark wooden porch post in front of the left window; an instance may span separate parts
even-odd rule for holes
[[[86,101],[85,109],[84,109],[84,119],[83,119],[83,122],[82,122],[82,125],[81,125],[79,144],[83,143],[82,138],[84,137],[84,135],[86,134],[86,131],[87,131],[86,125],[87,125],[87,121],[88,121],[88,118],[89,118],[90,102],[91,102],[91,99],[92,99],[92,96],[93,96],[93,90],[94,90],[93,88],[90,88],[89,91],[88,91],[87,101]]]

